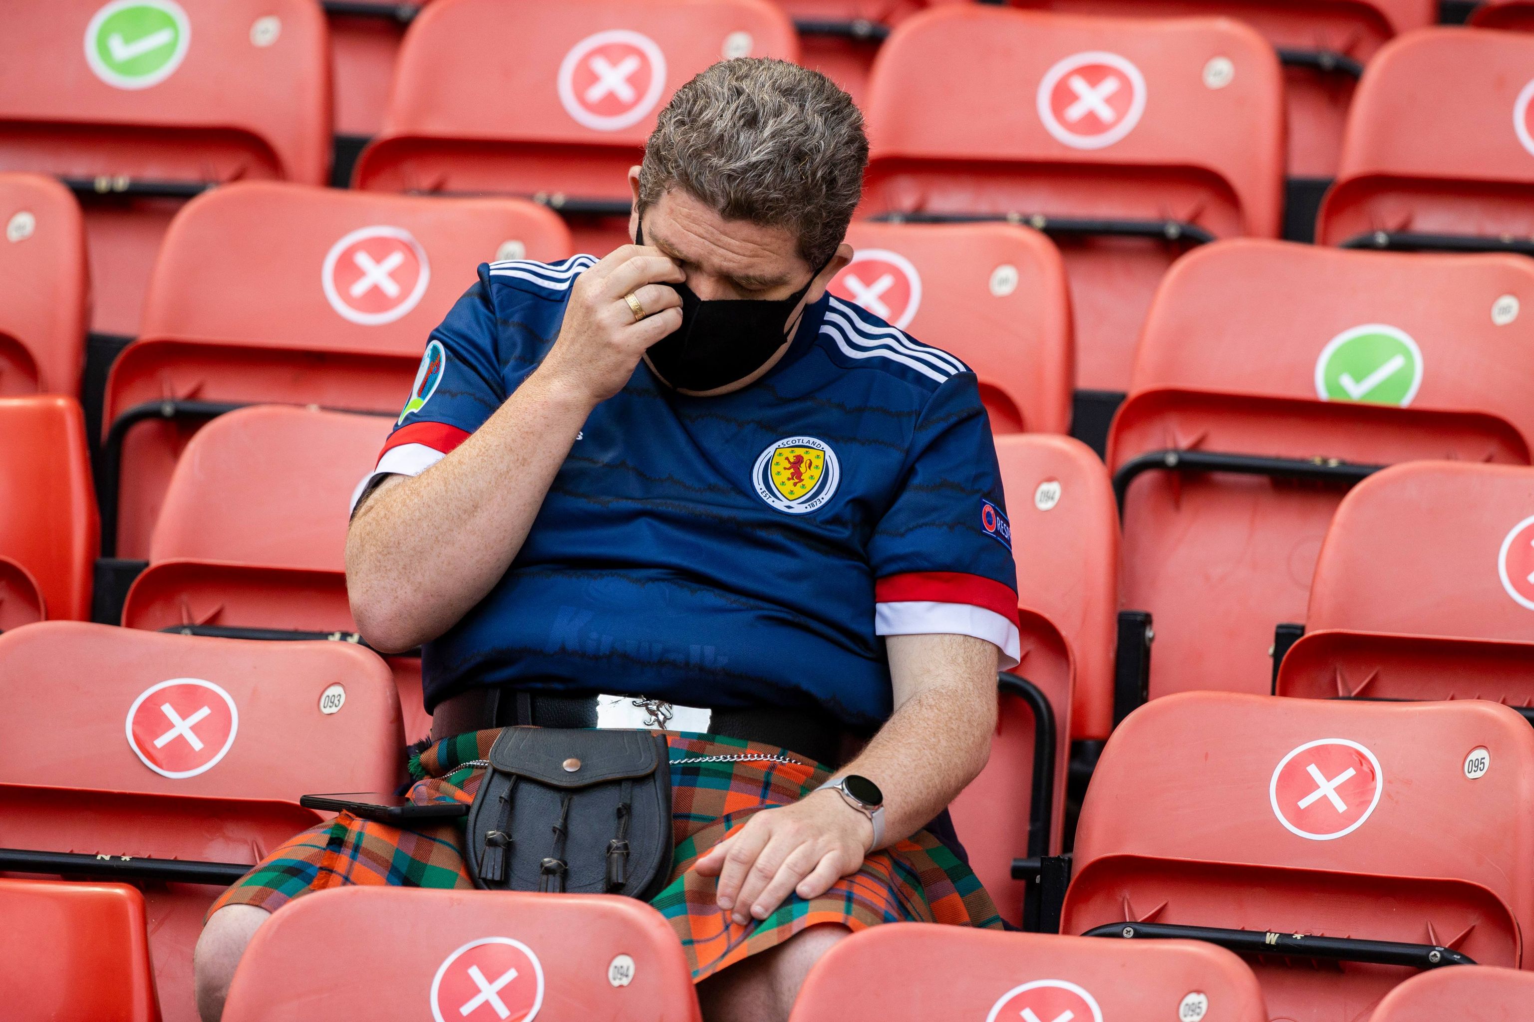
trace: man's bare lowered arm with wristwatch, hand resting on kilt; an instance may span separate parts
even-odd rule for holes
[[[891,635],[894,714],[842,773],[884,792],[884,846],[920,830],[985,767],[996,730],[999,651],[968,635]],[[818,898],[874,850],[873,824],[836,792],[752,816],[698,859],[719,908],[762,919],[788,896]]]

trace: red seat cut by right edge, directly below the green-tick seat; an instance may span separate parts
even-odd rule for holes
[[[1321,545],[1305,629],[1279,695],[1483,698],[1534,717],[1534,470],[1411,462],[1365,479]]]

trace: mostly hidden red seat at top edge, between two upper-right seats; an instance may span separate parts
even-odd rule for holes
[[[1016,6],[1114,17],[1241,18],[1284,61],[1289,173],[1338,170],[1348,101],[1364,64],[1401,32],[1437,21],[1436,0],[1011,0]]]

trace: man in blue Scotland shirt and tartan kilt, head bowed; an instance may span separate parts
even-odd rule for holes
[[[598,692],[661,726],[712,712],[666,732],[652,902],[710,1022],[787,1017],[850,930],[1000,927],[945,806],[1017,661],[1002,483],[974,374],[827,295],[867,152],[818,72],[742,58],[683,86],[630,170],[635,244],[479,269],[348,537],[362,634],[423,648],[417,801],[471,798],[460,764],[502,724],[592,726]],[[272,910],[469,887],[462,839],[345,813],[293,838],[210,910],[204,1019]]]

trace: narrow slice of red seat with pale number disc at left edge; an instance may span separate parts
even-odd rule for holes
[[[0,173],[0,396],[80,393],[91,281],[80,204],[35,173]]]

